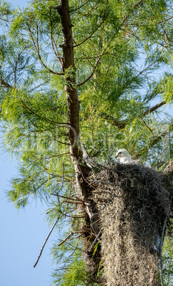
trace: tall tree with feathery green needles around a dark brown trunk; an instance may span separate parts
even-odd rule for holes
[[[56,285],[103,284],[95,162],[120,148],[155,169],[172,158],[172,117],[162,112],[173,99],[172,10],[164,0],[1,3],[4,145],[21,161],[9,199],[17,208],[44,200],[61,233],[79,225],[53,247],[64,262]]]

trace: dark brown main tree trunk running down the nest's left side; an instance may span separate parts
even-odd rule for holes
[[[61,0],[61,5],[54,7],[58,10],[61,16],[62,31],[63,31],[63,75],[66,80],[65,92],[68,102],[68,138],[70,143],[70,155],[73,161],[75,169],[76,184],[83,196],[83,201],[85,204],[85,223],[90,231],[86,232],[85,239],[86,245],[93,243],[94,238],[98,235],[100,227],[98,225],[98,210],[95,202],[91,198],[92,189],[88,185],[86,179],[90,174],[90,167],[83,161],[83,151],[80,148],[80,127],[79,127],[79,101],[78,101],[78,91],[76,89],[75,82],[75,62],[73,54],[73,33],[72,33],[72,23],[70,21],[70,11],[68,0]],[[93,250],[94,251],[94,250]],[[100,247],[94,253],[93,251],[87,251],[86,255],[90,264],[92,265],[93,275],[97,275],[98,268],[100,265]]]

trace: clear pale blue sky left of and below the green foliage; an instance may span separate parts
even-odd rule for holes
[[[11,0],[13,6],[26,6],[27,1]],[[0,134],[1,136],[1,134]],[[1,146],[1,139],[0,139]],[[2,286],[48,286],[53,269],[50,253],[56,240],[52,233],[41,259],[33,268],[50,227],[45,220],[46,206],[39,201],[24,210],[16,210],[8,202],[4,190],[9,190],[9,180],[17,174],[16,159],[11,160],[0,149],[0,285]]]

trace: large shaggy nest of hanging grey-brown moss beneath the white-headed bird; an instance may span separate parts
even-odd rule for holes
[[[154,285],[172,212],[173,166],[158,172],[140,164],[100,167],[90,176],[100,213],[107,285]]]

